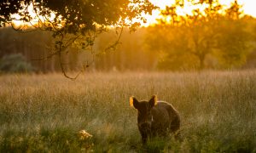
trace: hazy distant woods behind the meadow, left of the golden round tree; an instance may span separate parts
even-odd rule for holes
[[[96,38],[93,48],[84,49],[75,44],[61,54],[67,71],[149,71],[154,69],[156,59],[153,52],[148,52],[144,44],[145,29],[130,32],[123,31],[116,48],[107,49],[119,37],[116,31],[109,31]],[[58,56],[47,55],[54,49],[54,39],[49,32],[32,31],[20,33],[12,28],[0,29],[0,59],[9,54],[22,54],[38,72],[61,71]],[[44,58],[44,59],[42,59]]]

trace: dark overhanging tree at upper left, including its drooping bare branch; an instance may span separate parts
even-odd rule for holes
[[[108,31],[108,26],[119,31],[128,26],[133,31],[140,25],[133,20],[145,20],[141,14],[151,14],[156,7],[148,0],[2,0],[0,8],[0,26],[10,24],[16,31],[52,32],[55,49],[42,59],[58,55],[61,70],[68,77],[61,54],[67,52],[69,46],[91,48],[96,36]],[[16,26],[14,20],[24,24]],[[108,48],[114,48],[118,41]]]

